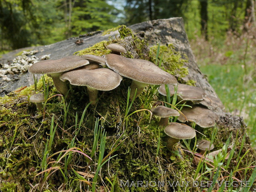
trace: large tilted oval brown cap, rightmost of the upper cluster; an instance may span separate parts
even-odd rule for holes
[[[177,84],[176,78],[154,63],[143,59],[129,59],[117,54],[107,54],[106,65],[118,74],[146,84]]]

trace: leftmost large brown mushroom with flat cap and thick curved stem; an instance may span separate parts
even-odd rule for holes
[[[88,60],[72,55],[57,60],[48,59],[39,61],[29,68],[29,72],[31,74],[50,74],[57,91],[63,95],[67,95],[67,84],[59,79],[60,75],[65,71],[82,67],[87,64],[89,64]]]

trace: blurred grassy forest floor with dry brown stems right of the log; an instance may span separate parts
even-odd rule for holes
[[[244,118],[252,147],[256,149],[256,39],[252,31],[240,37],[227,33],[225,40],[205,41],[197,37],[190,43],[200,70],[226,112]]]

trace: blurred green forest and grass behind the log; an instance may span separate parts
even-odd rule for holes
[[[0,0],[0,53],[182,17],[201,71],[256,148],[255,0]]]

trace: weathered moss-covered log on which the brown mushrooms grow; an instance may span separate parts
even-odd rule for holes
[[[207,79],[196,65],[192,50],[189,46],[187,35],[184,30],[182,18],[160,19],[139,23],[129,28],[119,26],[105,32],[84,35],[83,45],[76,45],[76,39],[68,39],[53,45],[35,48],[39,50],[36,56],[51,54],[51,59],[59,59],[71,54],[94,53],[99,56],[108,54],[105,46],[110,43],[118,43],[127,50],[125,57],[146,59],[152,62],[156,60],[157,44],[161,39],[160,52],[165,55],[161,68],[176,76],[179,82],[193,84],[204,89],[208,94],[217,96]],[[11,55],[12,53],[10,53]],[[10,56],[9,55],[9,56]],[[7,58],[7,55],[3,58]],[[172,61],[171,63],[168,63]],[[106,131],[106,144],[104,157],[113,157],[102,166],[97,180],[97,189],[101,186],[110,191],[177,191],[170,185],[156,187],[136,187],[136,185],[122,186],[122,182],[129,180],[143,181],[193,181],[196,164],[192,163],[192,155],[181,148],[181,144],[175,144],[172,151],[166,148],[166,138],[163,130],[160,130],[160,145],[158,148],[158,117],[150,116],[148,111],[140,111],[128,116],[132,112],[143,109],[147,89],[135,99],[129,113],[125,116],[127,107],[127,92],[131,85],[131,79],[124,78],[120,86],[112,91],[99,91],[98,101],[95,106],[88,106],[82,117],[84,108],[89,103],[89,96],[85,87],[70,86],[70,101],[59,102],[57,97],[51,98],[46,103],[45,118],[43,114],[37,113],[33,103],[28,102],[29,95],[34,93],[34,85],[31,76],[20,75],[23,82],[10,84],[5,83],[5,93],[14,91],[20,86],[29,86],[19,93],[10,92],[0,98],[0,189],[3,191],[90,191],[92,177],[97,168],[99,148],[91,154],[94,143],[94,125],[97,118],[99,124]],[[30,80],[29,80],[30,79]],[[53,82],[45,75],[46,84],[49,86],[49,97],[58,94]],[[11,88],[10,88],[11,87]],[[43,93],[42,79],[37,84],[38,93]],[[149,88],[150,89],[150,88]],[[154,95],[153,99],[163,100],[163,96]],[[154,101],[149,103],[148,109]],[[65,117],[65,111],[66,113]],[[246,125],[241,117],[230,116],[222,109],[214,110],[221,118],[217,122],[217,136],[214,146],[220,149],[225,144],[229,135],[231,142],[235,139],[241,141],[245,135],[245,144],[241,149],[240,156],[244,161],[240,167],[246,167],[248,162],[253,162],[255,151],[250,146],[249,137],[246,135]],[[52,147],[49,146],[49,133],[53,117],[53,127],[56,127]],[[64,123],[65,122],[65,123]],[[80,124],[81,122],[81,124]],[[56,125],[58,123],[58,125]],[[79,125],[80,124],[80,125]],[[123,134],[125,132],[125,134]],[[206,136],[212,135],[212,128],[198,128],[198,131]],[[121,138],[120,138],[121,136]],[[101,137],[101,136],[100,136]],[[118,140],[120,138],[120,140]],[[198,135],[197,139],[202,138]],[[117,143],[116,143],[117,142]],[[192,141],[191,144],[193,144]],[[117,151],[113,152],[113,148]],[[88,161],[81,153],[72,154],[54,164],[58,155],[50,156],[61,150],[78,147],[84,154],[89,155],[93,161]],[[240,147],[235,149],[233,159],[230,162],[230,170],[236,167]],[[45,161],[44,154],[47,153],[49,165],[42,167]],[[64,155],[65,151],[62,153]],[[110,154],[110,155],[109,155]],[[102,154],[101,154],[102,155]],[[109,156],[108,156],[109,155]],[[171,157],[175,158],[171,158]],[[69,163],[67,163],[69,161]],[[65,162],[67,167],[65,167]],[[90,163],[90,166],[88,166]],[[49,170],[55,165],[56,169]],[[63,170],[63,174],[60,171]],[[42,171],[48,171],[41,173]],[[250,175],[252,169],[246,169]],[[240,170],[235,177],[241,176],[245,170]],[[38,175],[39,174],[39,175]],[[80,177],[77,175],[80,174]],[[66,178],[65,178],[65,177]],[[66,179],[66,180],[65,180]],[[89,182],[85,182],[89,181]],[[112,182],[112,184],[109,182]],[[89,183],[89,185],[88,185]],[[181,187],[180,191],[199,191],[200,188]]]

